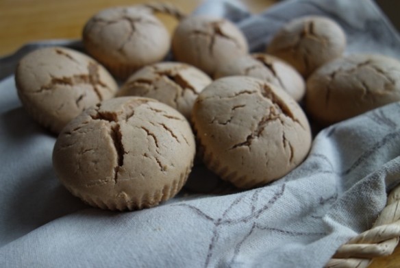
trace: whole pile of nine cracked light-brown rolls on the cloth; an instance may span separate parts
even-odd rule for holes
[[[344,56],[345,33],[319,16],[288,22],[264,53],[212,16],[186,16],[171,37],[147,5],[100,11],[82,40],[86,54],[29,53],[15,80],[27,112],[58,135],[58,178],[99,208],[158,205],[195,158],[238,188],[263,186],[307,157],[308,117],[329,125],[400,100],[400,63]]]

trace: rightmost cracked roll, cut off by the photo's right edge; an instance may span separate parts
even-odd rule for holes
[[[329,125],[400,101],[400,62],[380,55],[353,54],[329,62],[307,81],[305,109]]]

